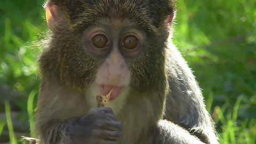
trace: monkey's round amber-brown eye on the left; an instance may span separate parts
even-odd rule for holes
[[[92,38],[93,46],[97,47],[98,49],[106,47],[107,43],[108,43],[108,38],[106,35],[98,34]]]

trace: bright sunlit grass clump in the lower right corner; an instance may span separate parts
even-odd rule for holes
[[[238,109],[242,101],[241,97],[238,97],[233,111],[230,113],[224,114],[225,109],[227,108],[227,103],[220,108],[215,107],[217,111],[217,118],[215,118],[215,123],[221,123],[220,133],[220,143],[234,143],[234,144],[254,144],[255,135],[256,135],[256,121],[251,119],[248,124],[248,120],[245,119],[243,122],[238,123]],[[246,126],[249,125],[249,126]]]

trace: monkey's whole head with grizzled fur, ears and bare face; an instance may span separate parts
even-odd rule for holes
[[[50,0],[44,78],[100,94],[166,91],[165,50],[174,0]],[[148,91],[150,90],[150,91]]]

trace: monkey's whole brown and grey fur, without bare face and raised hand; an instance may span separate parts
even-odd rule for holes
[[[204,142],[208,139],[210,143],[218,142],[201,91],[185,60],[172,45],[171,31],[164,23],[175,13],[173,1],[51,2],[61,8],[65,20],[54,29],[38,60],[42,83],[36,122],[42,141],[65,141],[68,138],[62,123],[90,110],[85,93],[104,59],[92,58],[84,51],[83,31],[101,20],[118,19],[134,23],[145,31],[148,40],[140,58],[127,60],[131,91],[116,114],[124,126],[119,143],[201,143],[178,125],[202,131],[207,137]]]

